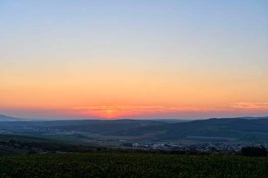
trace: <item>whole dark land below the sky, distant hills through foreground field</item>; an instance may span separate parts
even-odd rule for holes
[[[267,124],[267,118],[2,121],[0,176],[268,177],[267,157],[245,157],[239,150],[209,146],[250,143],[246,140],[267,146]],[[143,147],[130,144],[142,141]],[[149,149],[152,142],[167,141],[178,150],[169,143],[158,144],[160,150]],[[193,143],[209,150],[197,150]]]

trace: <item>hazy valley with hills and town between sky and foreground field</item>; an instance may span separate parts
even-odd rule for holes
[[[0,156],[97,150],[197,150],[239,153],[268,147],[266,117],[176,120],[69,120],[0,122]],[[15,120],[15,121],[14,121]],[[185,152],[187,153],[187,152]]]

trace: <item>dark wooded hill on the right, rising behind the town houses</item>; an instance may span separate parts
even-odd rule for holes
[[[155,140],[165,141],[267,141],[268,120],[242,118],[211,118],[184,123],[144,126],[114,132],[115,135],[142,135],[162,132]]]

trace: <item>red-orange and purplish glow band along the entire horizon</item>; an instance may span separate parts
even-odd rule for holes
[[[20,118],[55,119],[117,119],[117,118],[210,118],[238,116],[267,116],[268,103],[238,102],[221,106],[128,106],[101,105],[71,108],[2,107],[1,114]]]

